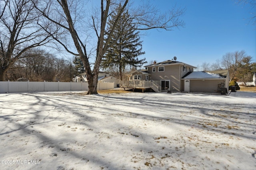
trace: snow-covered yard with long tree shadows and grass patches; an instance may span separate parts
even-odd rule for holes
[[[0,94],[0,170],[255,170],[256,93]]]

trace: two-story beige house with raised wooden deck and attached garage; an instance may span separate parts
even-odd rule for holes
[[[218,92],[229,85],[227,70],[194,72],[195,66],[179,61],[154,62],[145,66],[146,70],[135,70],[126,74],[120,82],[122,88],[147,89],[155,92]]]

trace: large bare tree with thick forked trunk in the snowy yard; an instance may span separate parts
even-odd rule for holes
[[[61,37],[58,35],[58,31],[54,30],[55,33],[52,33],[52,30],[49,30],[43,25],[43,23],[40,23],[42,28],[45,28],[45,31],[60,43],[66,51],[72,55],[79,56],[82,60],[88,80],[89,90],[87,94],[97,94],[98,72],[102,57],[106,53],[106,50],[112,47],[115,43],[115,41],[110,43],[110,38],[112,37],[117,22],[121,14],[124,12],[128,2],[129,0],[101,0],[99,10],[100,17],[97,15],[92,15],[91,17],[87,16],[87,20],[91,18],[91,21],[89,22],[92,23],[92,28],[94,29],[97,38],[96,56],[93,69],[90,67],[89,56],[85,43],[86,41],[82,40],[82,38],[85,38],[84,36],[86,33],[85,31],[83,31],[83,33],[79,32],[79,28],[83,27],[84,29],[86,27],[86,25],[82,25],[82,20],[80,20],[81,14],[79,11],[82,10],[81,6],[78,5],[80,2],[78,0],[48,0],[46,4],[40,5],[40,7],[38,6],[40,13],[47,18],[49,22],[55,24],[58,31],[66,30],[68,35],[70,35],[76,50],[69,46],[70,43],[67,43],[70,42],[66,39],[68,35]],[[114,21],[112,29],[109,30],[109,34],[106,37],[104,33],[108,17],[119,4],[121,4],[122,8],[118,12],[116,21]],[[53,11],[55,11],[55,14],[51,13]],[[95,13],[97,13],[97,11],[95,11]],[[172,30],[174,27],[184,26],[184,22],[179,19],[182,14],[184,14],[183,9],[172,9],[168,14],[159,14],[155,8],[140,6],[133,10],[130,20],[133,20],[134,23],[138,25],[137,29],[141,30],[153,28]],[[117,39],[119,37],[117,37]]]

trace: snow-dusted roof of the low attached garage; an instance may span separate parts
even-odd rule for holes
[[[220,76],[220,74],[210,73],[210,72],[204,72],[204,71],[196,71],[196,72],[190,72],[190,74],[187,74],[183,77],[184,79],[192,79],[192,78],[225,78],[223,76]]]

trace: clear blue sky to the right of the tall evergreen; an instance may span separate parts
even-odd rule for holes
[[[228,52],[244,50],[256,62],[256,25],[250,5],[235,0],[151,0],[161,11],[185,7],[186,26],[174,31],[150,30],[141,40],[146,61],[177,61],[193,66],[216,63]]]

